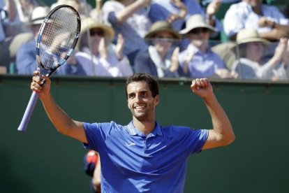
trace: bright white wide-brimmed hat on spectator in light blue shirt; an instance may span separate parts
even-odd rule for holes
[[[212,32],[216,32],[216,29],[214,27],[207,24],[207,22],[205,21],[205,17],[200,14],[195,14],[191,17],[188,17],[188,20],[186,20],[186,28],[179,31],[179,34],[187,34],[188,31],[199,27],[204,27],[210,29]]]

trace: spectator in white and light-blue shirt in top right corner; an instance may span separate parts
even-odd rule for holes
[[[279,41],[289,34],[289,20],[275,6],[262,1],[242,0],[234,3],[225,13],[223,20],[225,34],[235,41],[241,29],[255,29],[261,38]]]

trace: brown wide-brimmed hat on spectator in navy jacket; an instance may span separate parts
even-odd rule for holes
[[[144,38],[154,38],[156,34],[163,31],[170,33],[175,39],[181,39],[181,35],[172,29],[172,25],[170,23],[165,21],[154,22],[154,24],[151,25],[151,29],[147,35],[144,36]]]

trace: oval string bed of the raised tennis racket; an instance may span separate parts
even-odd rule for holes
[[[45,69],[64,63],[77,35],[77,14],[71,8],[56,10],[45,22],[40,41],[40,60]]]

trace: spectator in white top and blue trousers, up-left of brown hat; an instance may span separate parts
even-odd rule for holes
[[[147,49],[144,35],[151,27],[147,16],[150,3],[151,0],[108,0],[103,4],[103,20],[112,25],[116,34],[124,36],[124,54],[128,56],[131,65],[138,51]]]

